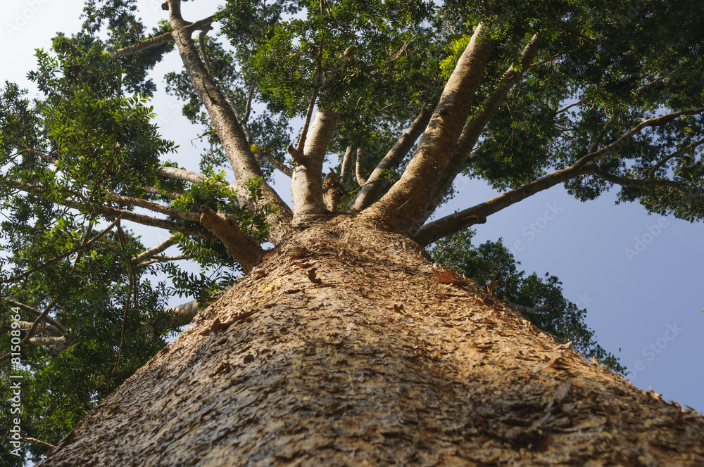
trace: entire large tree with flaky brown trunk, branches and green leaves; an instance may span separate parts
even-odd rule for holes
[[[189,23],[169,0],[144,39],[134,2],[87,1],[84,32],[38,53],[43,98],[6,84],[0,112],[4,326],[28,331],[7,360],[27,378],[80,362],[56,390],[84,379],[74,407],[102,400],[43,464],[700,463],[698,414],[541,333],[516,306],[537,302],[494,295],[520,302],[522,286],[482,290],[422,251],[560,183],[700,219],[702,44],[670,34],[699,8],[625,6],[230,1]],[[175,148],[146,107],[174,46],[168,87],[212,144],[201,174],[162,162]],[[293,210],[272,170],[291,176]],[[504,193],[427,222],[460,173]],[[146,248],[122,222],[169,236]],[[172,244],[182,255],[161,254]],[[171,264],[184,259],[201,275]],[[171,285],[152,286],[156,268]],[[192,316],[165,295],[207,302],[239,271],[112,392]],[[555,305],[557,279],[523,284],[565,305],[558,318],[576,311]],[[49,439],[82,415],[33,400],[61,419],[35,423]]]

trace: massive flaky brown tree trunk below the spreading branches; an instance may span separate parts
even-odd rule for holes
[[[704,420],[345,215],[201,312],[39,466],[700,466]]]

